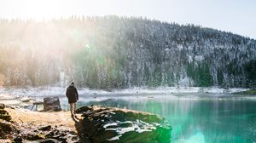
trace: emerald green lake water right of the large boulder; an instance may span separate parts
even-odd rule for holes
[[[253,96],[100,95],[82,97],[78,104],[115,106],[158,114],[172,125],[172,143],[256,141],[256,100]]]

